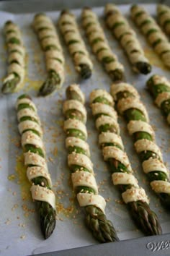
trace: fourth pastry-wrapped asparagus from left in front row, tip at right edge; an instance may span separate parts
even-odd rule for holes
[[[128,132],[134,137],[135,150],[140,156],[151,188],[160,197],[162,204],[170,208],[169,171],[156,145],[155,133],[138,91],[132,85],[120,83],[112,85],[111,94],[117,104],[117,111],[128,121]]]

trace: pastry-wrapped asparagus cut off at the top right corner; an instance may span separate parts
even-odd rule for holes
[[[170,35],[170,8],[165,4],[158,4],[157,18],[166,35]]]

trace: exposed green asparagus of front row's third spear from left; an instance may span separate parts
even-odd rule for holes
[[[101,90],[98,90],[101,91]],[[97,92],[97,90],[94,90],[91,93],[91,108],[92,110],[95,107],[95,103],[102,103],[103,105],[103,109],[104,106],[112,106],[111,101],[108,101],[108,96],[110,96],[109,94],[107,94],[108,96],[106,97],[106,91],[102,90],[103,92],[101,92],[100,97],[95,98],[94,93]],[[102,108],[102,106],[101,106]],[[109,116],[110,118],[112,118],[112,115],[110,115],[109,111],[107,114],[107,116]],[[99,120],[99,118],[102,118],[103,114],[101,113],[100,116],[95,115],[94,117]],[[113,121],[116,121],[116,119],[112,118]],[[118,127],[118,124],[117,124]],[[101,124],[99,127],[99,133],[100,135],[104,135],[104,137],[107,136],[107,132],[109,132],[109,136],[110,135],[119,135],[119,129],[113,129],[112,125],[109,124],[107,125],[107,123],[105,121],[103,121],[103,124]],[[110,134],[112,133],[112,134]],[[107,150],[109,151],[109,147],[111,148],[119,148],[120,150],[123,151],[122,145],[118,144],[118,142],[116,140],[114,140],[113,138],[109,138],[109,140],[107,140],[107,142],[102,143],[102,148],[104,149],[105,147],[107,147]],[[125,157],[124,157],[125,158]],[[127,158],[128,159],[128,158]],[[108,163],[109,163],[109,168],[112,171],[112,174],[117,174],[117,173],[127,173],[127,174],[131,174],[133,176],[132,171],[130,171],[130,164],[127,166],[125,166],[124,163],[122,163],[121,161],[118,161],[116,159],[116,156],[112,153],[112,157],[110,157],[108,159]],[[118,178],[117,178],[118,179]],[[132,189],[132,188],[136,188],[138,187],[138,183],[137,184],[130,184],[130,176],[129,176],[129,182],[128,184],[117,184],[117,187],[120,189],[120,192],[122,193],[122,195],[124,195],[123,193],[126,191],[129,191],[128,189]],[[134,190],[135,191],[135,190]],[[124,198],[124,197],[123,197]],[[143,231],[144,234],[146,235],[156,235],[156,234],[161,234],[161,226],[158,222],[158,217],[156,216],[156,213],[154,213],[148,205],[147,200],[144,200],[144,196],[141,198],[138,198],[138,200],[130,200],[130,202],[127,202],[128,208],[130,210],[131,216],[133,218],[133,221],[135,221],[135,223],[137,224],[137,226],[139,227],[139,229],[141,229]]]

